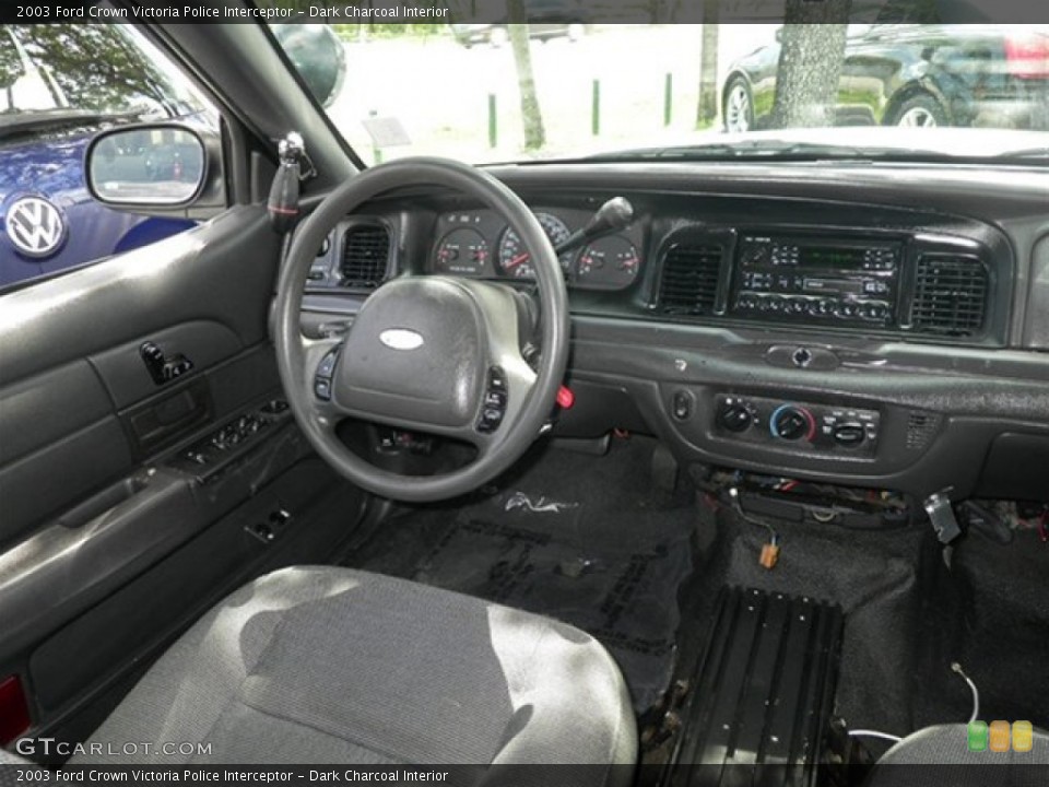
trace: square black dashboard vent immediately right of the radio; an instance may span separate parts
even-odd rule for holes
[[[979,333],[989,284],[987,268],[975,257],[923,255],[910,313],[915,330],[957,337]]]

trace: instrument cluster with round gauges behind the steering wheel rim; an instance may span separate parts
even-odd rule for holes
[[[550,242],[566,240],[591,218],[586,210],[537,210],[535,218]],[[428,270],[478,279],[532,280],[531,251],[517,233],[487,210],[446,213],[437,220],[436,244]],[[558,259],[568,286],[582,290],[625,290],[638,277],[641,231],[637,223],[621,233],[600,237]]]

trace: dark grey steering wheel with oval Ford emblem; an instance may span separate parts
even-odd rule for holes
[[[400,275],[365,301],[345,339],[303,336],[303,289],[331,230],[375,197],[420,185],[476,199],[531,251],[543,324],[537,369],[521,355],[529,321],[522,296],[506,284],[457,277]],[[487,173],[444,158],[392,161],[338,187],[296,230],[278,284],[276,361],[298,425],[337,472],[390,500],[465,494],[517,461],[553,410],[568,330],[565,281],[535,216]],[[464,441],[476,457],[437,475],[384,470],[338,437],[347,416]]]

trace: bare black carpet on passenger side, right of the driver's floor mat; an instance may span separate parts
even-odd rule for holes
[[[973,698],[951,670],[958,661],[981,694],[980,718],[1049,727],[1049,544],[1022,531],[1002,547],[978,533],[956,545],[952,567],[922,522],[885,531],[777,522],[781,553],[757,559],[766,532],[721,508],[705,517],[718,538],[686,611],[706,620],[722,585],[838,603],[846,613],[837,713],[850,728],[906,736],[967,721]],[[706,634],[702,635],[703,637]],[[875,751],[886,745],[865,741]]]

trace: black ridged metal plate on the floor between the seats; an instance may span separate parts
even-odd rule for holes
[[[808,597],[723,588],[669,783],[814,785],[844,622]]]

